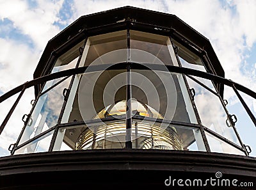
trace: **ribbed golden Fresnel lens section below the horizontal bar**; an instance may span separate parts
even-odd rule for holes
[[[125,148],[125,122],[109,122],[95,130],[85,129],[76,142],[76,150]],[[132,125],[132,147],[140,149],[183,150],[175,127],[165,131],[159,125],[135,122]]]

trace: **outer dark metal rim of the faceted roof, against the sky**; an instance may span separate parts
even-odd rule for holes
[[[184,26],[184,27],[188,28],[189,31],[193,31],[193,35],[191,36],[191,39],[195,38],[195,36],[197,36],[198,43],[201,44],[201,45],[203,44],[203,47],[201,47],[201,48],[203,48],[203,49],[205,48],[205,51],[209,51],[208,52],[209,56],[211,56],[212,59],[214,59],[214,62],[216,62],[216,63],[214,63],[214,65],[216,65],[216,67],[220,71],[220,72],[218,72],[218,75],[221,75],[222,77],[224,77],[224,70],[221,67],[220,61],[218,60],[218,57],[216,56],[216,54],[214,52],[214,49],[212,48],[212,45],[211,45],[211,42],[209,41],[209,39],[205,38],[205,36],[203,36],[202,34],[198,33],[198,31],[196,31],[191,26],[186,24],[186,22],[184,22],[183,20],[179,19],[179,17],[177,17],[176,15],[172,15],[172,14],[169,14],[169,13],[156,12],[156,11],[153,11],[153,10],[145,10],[145,9],[142,9],[142,8],[136,8],[136,7],[132,7],[132,6],[124,6],[124,7],[121,7],[121,8],[115,8],[115,9],[112,9],[112,10],[107,10],[107,11],[98,12],[98,13],[92,13],[90,15],[84,15],[84,16],[79,17],[79,19],[77,19],[72,24],[70,24],[70,26],[68,26],[67,28],[63,29],[63,31],[61,31],[58,35],[54,36],[54,38],[49,40],[49,42],[47,43],[47,45],[46,45],[46,47],[44,49],[42,57],[40,58],[40,61],[39,61],[38,65],[37,65],[37,67],[36,67],[36,70],[34,72],[33,77],[37,78],[37,77],[40,77],[42,75],[42,68],[44,68],[47,65],[47,59],[49,59],[49,57],[51,56],[51,52],[54,51],[56,48],[58,48],[58,45],[54,45],[54,44],[56,44],[57,40],[60,41],[60,42],[58,42],[58,44],[65,43],[67,41],[67,37],[68,37],[68,35],[70,35],[70,33],[72,33],[72,35],[76,35],[76,33],[78,33],[78,31],[74,31],[73,32],[72,28],[74,28],[76,30],[79,30],[79,28],[77,28],[77,27],[81,26],[80,29],[86,29],[86,26],[83,26],[83,20],[84,19],[92,18],[92,20],[93,20],[93,19],[95,19],[95,17],[97,17],[99,15],[106,14],[106,13],[107,14],[108,13],[109,14],[111,14],[111,13],[115,14],[115,12],[116,13],[117,12],[120,13],[120,11],[124,11],[124,13],[122,13],[121,15],[127,15],[128,16],[129,12],[131,12],[132,10],[133,11],[138,11],[140,13],[147,12],[147,13],[151,13],[151,14],[163,15],[164,17],[170,17],[169,20],[172,20],[173,22],[175,22],[175,20],[176,20],[177,21],[176,23],[180,23],[180,25],[179,25],[180,29]],[[113,20],[113,22],[115,22],[115,20]],[[156,22],[156,20],[154,22]],[[170,25],[170,24],[167,24],[167,25]],[[159,26],[161,26],[161,24],[159,24]],[[172,28],[172,24],[171,24],[170,27]],[[178,32],[180,32],[180,31],[178,31]],[[181,33],[181,35],[182,35],[182,33]],[[184,36],[184,37],[186,38],[186,36]],[[194,41],[194,43],[196,41]]]

